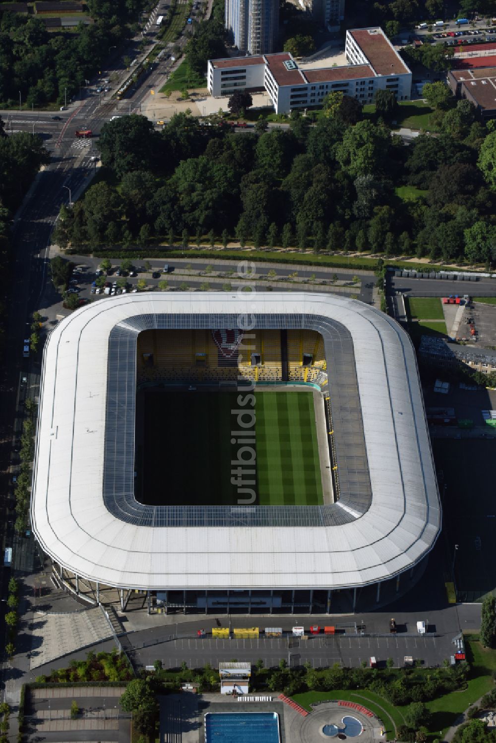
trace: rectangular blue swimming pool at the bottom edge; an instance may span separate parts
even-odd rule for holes
[[[205,743],[280,743],[275,712],[207,713]]]

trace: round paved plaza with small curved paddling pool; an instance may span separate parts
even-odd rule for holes
[[[346,702],[328,701],[315,704],[312,713],[304,718],[300,728],[302,743],[316,740],[338,743],[355,740],[357,743],[385,741],[384,725],[370,710],[356,704],[350,710]]]

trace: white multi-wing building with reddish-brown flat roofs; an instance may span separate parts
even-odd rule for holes
[[[236,89],[265,89],[277,114],[293,108],[321,106],[327,94],[341,91],[361,103],[372,103],[379,89],[409,100],[411,72],[380,28],[347,31],[349,65],[306,68],[288,52],[256,57],[210,59],[207,85],[213,97]]]

